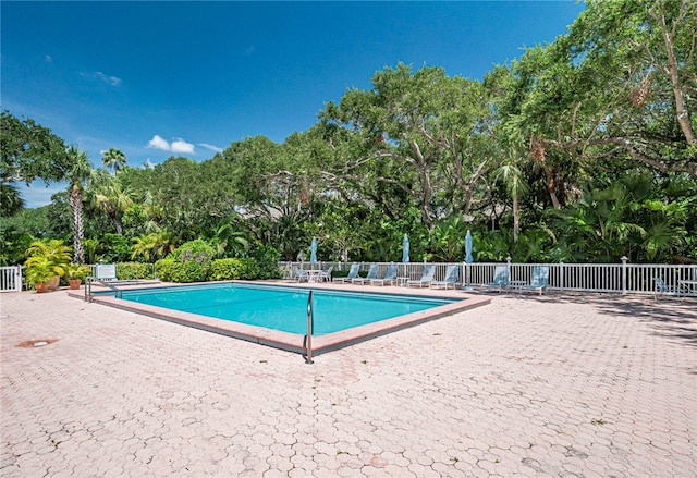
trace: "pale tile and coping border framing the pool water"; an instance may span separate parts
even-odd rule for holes
[[[221,283],[221,282],[218,282]],[[247,281],[230,281],[227,283],[240,283],[240,284],[256,284],[256,285],[267,285],[267,286],[279,286],[279,287],[297,287],[298,284],[284,284],[284,283],[259,283],[259,282],[247,282]],[[206,284],[211,284],[210,282]],[[176,286],[186,286],[194,284],[160,284],[159,286],[167,287],[176,287]],[[313,284],[314,285],[314,284]],[[144,284],[144,286],[129,286],[124,287],[124,290],[136,290],[144,287],[154,287],[152,284]],[[414,293],[414,291],[409,291],[411,293],[406,294],[405,291],[395,291],[399,287],[390,287],[389,291],[376,291],[375,289],[365,290],[365,289],[356,289],[356,287],[337,287],[337,286],[311,286],[311,287],[302,287],[302,289],[313,289],[315,291],[321,290],[334,290],[334,291],[345,291],[353,293],[365,293],[365,294],[386,294],[386,295],[409,295],[409,296],[421,296],[428,298],[449,298],[449,299],[457,299],[460,297],[445,293],[444,295],[425,295]],[[71,296],[76,298],[84,299],[84,295],[70,293]],[[119,299],[115,297],[107,296],[107,295],[93,295],[93,303],[107,305],[109,307],[114,307],[121,310],[127,310],[134,314],[139,314],[147,317],[152,317],[156,319],[167,320],[169,322],[178,323],[180,326],[193,327],[196,329],[205,330],[208,332],[213,332],[227,336],[231,336],[234,339],[244,340],[247,342],[254,342],[260,345],[267,345],[274,348],[280,348],[288,352],[293,352],[297,354],[305,354],[307,352],[305,346],[305,335],[304,334],[295,334],[283,332],[273,329],[266,329],[262,327],[248,326],[245,323],[233,322],[233,321],[224,321],[220,319],[213,319],[210,317],[199,316],[197,314],[183,312],[178,310],[172,310],[163,307],[151,306],[147,304],[134,303],[129,301]],[[366,326],[355,327],[352,329],[342,330],[339,332],[328,333],[323,335],[313,335],[311,339],[311,347],[313,355],[320,355],[327,352],[335,351],[339,348],[343,348],[350,345],[354,345],[360,342],[365,342],[380,335],[386,335],[391,332],[395,332],[402,329],[411,328],[418,326],[420,323],[425,323],[431,320],[440,319],[447,316],[451,316],[461,311],[470,310],[476,307],[481,307],[491,302],[491,297],[485,295],[468,295],[466,297],[462,297],[462,299],[442,305],[439,307],[433,307],[428,310],[421,310],[418,312],[407,314],[404,316],[395,317],[393,319],[381,320],[379,322],[368,323]]]

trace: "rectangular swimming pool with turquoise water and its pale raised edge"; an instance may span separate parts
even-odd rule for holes
[[[237,297],[235,290],[245,291]],[[308,286],[297,284],[259,284],[249,282],[167,285],[95,292],[91,302],[155,317],[178,324],[194,327],[262,345],[305,354],[307,351]],[[445,291],[438,296],[414,295],[408,289],[391,287],[394,293],[369,293],[364,287],[311,285],[315,355],[356,344],[396,330],[486,305],[487,296],[467,296]],[[197,297],[182,301],[180,294]],[[270,294],[267,294],[270,293]],[[435,291],[433,291],[435,293]],[[200,294],[200,295],[199,295]],[[427,293],[428,294],[428,293]],[[77,296],[77,295],[76,295]],[[363,299],[363,301],[357,301]],[[376,302],[377,301],[377,302]],[[184,304],[180,309],[175,303]],[[338,306],[338,304],[343,304]],[[356,306],[356,304],[362,304]],[[390,307],[383,309],[376,304]],[[218,318],[218,309],[244,310],[247,323],[240,318]],[[327,309],[328,319],[317,309]],[[258,312],[278,311],[274,318],[260,321]],[[386,310],[389,309],[389,312]],[[374,315],[381,310],[382,316]],[[366,317],[370,317],[366,319]],[[280,324],[282,322],[282,324]],[[302,326],[301,326],[302,323]]]

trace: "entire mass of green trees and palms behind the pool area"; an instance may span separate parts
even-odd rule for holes
[[[317,237],[322,259],[399,260],[406,233],[414,260],[451,261],[472,230],[477,260],[695,260],[695,32],[688,0],[588,0],[566,34],[482,81],[398,63],[282,143],[148,168],[112,148],[118,174],[85,182],[60,138],[3,112],[2,185],[73,179],[49,234],[70,234],[84,203],[88,257],[205,238],[219,257],[296,259]],[[12,237],[44,223],[3,221]]]

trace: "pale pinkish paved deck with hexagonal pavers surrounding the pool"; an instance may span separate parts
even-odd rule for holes
[[[0,476],[697,476],[696,299],[492,297],[306,365],[3,293]]]

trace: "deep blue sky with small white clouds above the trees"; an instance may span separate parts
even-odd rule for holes
[[[247,136],[283,142],[346,88],[402,61],[480,79],[566,30],[583,3],[14,2],[1,9],[1,107],[95,166],[197,161]],[[63,185],[23,192],[28,207]]]

